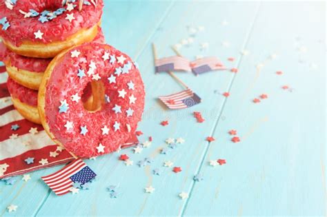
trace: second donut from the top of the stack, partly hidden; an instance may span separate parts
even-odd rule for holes
[[[103,32],[100,27],[98,27],[97,37],[93,41],[104,43]],[[6,46],[0,43],[0,61],[5,63],[9,76],[20,85],[32,90],[39,90],[43,72],[46,71],[51,60],[50,58],[41,59],[21,56],[6,49]]]

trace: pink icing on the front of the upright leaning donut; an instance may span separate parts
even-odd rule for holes
[[[72,51],[81,52],[78,57],[71,57]],[[103,54],[108,52],[115,55],[115,63],[110,60],[103,61]],[[130,70],[126,74],[115,74],[115,69],[123,67],[118,63],[118,56],[126,58],[123,64],[130,62]],[[105,87],[105,94],[109,96],[110,103],[105,103],[101,110],[97,112],[88,112],[84,109],[81,101],[72,101],[72,95],[83,94],[83,89],[92,80],[88,76],[90,61],[96,65],[94,74],[99,74]],[[78,70],[84,69],[85,76],[77,76]],[[116,83],[110,83],[108,77],[116,76]],[[69,78],[69,79],[68,79]],[[100,80],[99,80],[100,81]],[[127,83],[134,83],[134,90],[129,89]],[[127,93],[122,98],[119,91],[125,90]],[[130,103],[130,97],[135,96],[135,103]],[[67,52],[63,58],[55,65],[46,86],[45,96],[45,114],[46,121],[50,127],[50,132],[68,149],[68,151],[77,154],[77,156],[90,157],[99,154],[115,151],[121,144],[125,143],[130,134],[135,132],[137,123],[141,120],[141,114],[144,107],[144,87],[141,75],[136,66],[132,63],[130,57],[110,45],[100,45],[98,43],[86,43]],[[61,101],[66,100],[68,110],[59,113]],[[112,108],[115,105],[121,106],[121,113],[115,113]],[[126,110],[134,110],[132,116],[127,116]],[[67,121],[72,121],[73,127],[69,130],[65,125]],[[113,125],[120,123],[120,129],[115,132]],[[130,132],[128,127],[130,125]],[[108,135],[102,134],[101,128],[104,126],[110,128]],[[88,132],[85,136],[81,134],[81,127],[86,126]],[[98,152],[97,147],[101,143],[104,146],[104,153]]]

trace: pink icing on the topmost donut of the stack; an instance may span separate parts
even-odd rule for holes
[[[67,37],[75,34],[81,28],[91,28],[101,19],[103,0],[97,0],[97,7],[90,5],[83,5],[83,10],[78,10],[78,2],[76,1],[76,8],[72,11],[63,12],[51,21],[41,23],[38,17],[24,18],[24,15],[19,12],[23,10],[33,9],[37,12],[43,10],[57,10],[58,8],[66,8],[62,6],[62,0],[29,0],[17,1],[10,10],[6,7],[5,1],[0,2],[0,19],[7,17],[10,27],[7,30],[0,28],[0,37],[10,43],[19,46],[23,41],[33,41],[38,43],[50,43],[52,41],[64,41]],[[73,14],[75,19],[68,21],[67,14]],[[41,31],[43,33],[42,39],[35,39],[34,32]]]

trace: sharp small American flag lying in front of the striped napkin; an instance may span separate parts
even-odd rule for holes
[[[70,192],[74,183],[84,185],[95,178],[97,174],[81,159],[76,159],[54,174],[41,177],[42,180],[58,196]]]

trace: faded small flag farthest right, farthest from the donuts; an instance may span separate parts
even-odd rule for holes
[[[213,70],[226,70],[226,67],[215,56],[204,57],[190,62],[190,67],[195,75]]]

